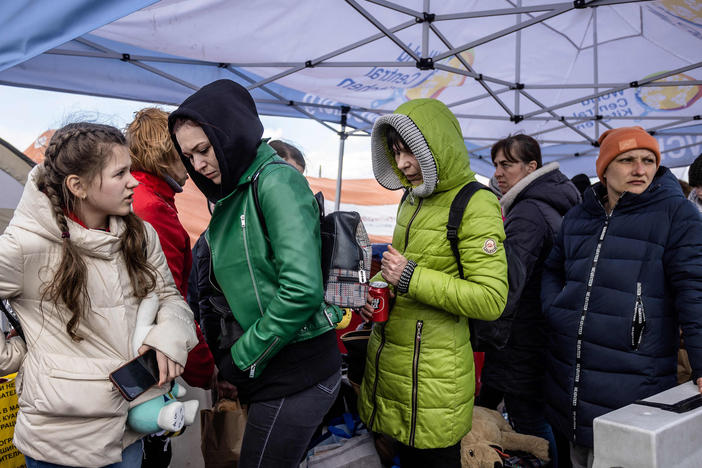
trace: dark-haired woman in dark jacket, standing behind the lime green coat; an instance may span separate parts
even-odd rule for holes
[[[496,408],[504,398],[509,420],[517,432],[549,441],[549,456],[558,466],[551,426],[543,400],[543,343],[546,328],[541,310],[541,272],[563,215],[580,196],[558,169],[541,164],[541,149],[527,135],[498,141],[491,150],[495,180],[505,218],[505,234],[526,269],[526,284],[516,304],[510,338],[500,350],[485,352],[478,404]]]

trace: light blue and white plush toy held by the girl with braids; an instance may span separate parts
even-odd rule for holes
[[[158,311],[158,297],[154,294],[146,296],[139,304],[137,323],[132,338],[134,353],[141,347],[144,338],[153,327]],[[177,435],[184,426],[195,421],[199,403],[197,400],[178,401],[185,396],[185,389],[177,383],[171,390],[159,397],[145,401],[129,410],[127,425],[141,434]]]

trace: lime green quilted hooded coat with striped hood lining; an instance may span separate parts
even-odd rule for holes
[[[417,158],[421,185],[413,187],[397,168],[386,142],[388,125]],[[417,267],[389,320],[373,327],[361,419],[408,446],[448,447],[471,428],[475,375],[468,318],[498,318],[507,298],[500,206],[486,190],[470,200],[458,232],[465,272],[460,279],[446,223],[451,202],[475,174],[458,121],[440,101],[418,99],[380,117],[371,140],[378,182],[410,191],[392,245]]]

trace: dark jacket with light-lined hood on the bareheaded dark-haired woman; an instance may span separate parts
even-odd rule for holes
[[[543,264],[561,228],[563,215],[580,202],[578,189],[547,164],[514,185],[500,200],[505,234],[526,269],[510,338],[501,350],[485,352],[482,383],[512,395],[543,398],[546,325],[541,310]]]

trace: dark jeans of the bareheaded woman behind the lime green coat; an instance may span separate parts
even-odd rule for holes
[[[551,458],[551,465],[558,466],[558,451],[556,450],[556,438],[553,435],[551,425],[544,416],[546,408],[543,400],[529,398],[521,395],[502,393],[499,390],[483,385],[477,404],[486,408],[497,409],[500,401],[504,398],[505,409],[509,416],[509,423],[515,431],[520,434],[534,435],[542,437],[548,441],[548,456]]]

